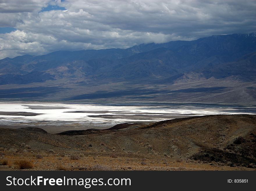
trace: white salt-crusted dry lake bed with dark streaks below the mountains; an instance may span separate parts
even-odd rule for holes
[[[216,114],[256,114],[256,109],[212,104],[0,102],[0,127],[31,126],[59,133]]]

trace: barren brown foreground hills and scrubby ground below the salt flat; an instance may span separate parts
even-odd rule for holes
[[[8,169],[25,158],[34,169],[249,170],[256,167],[256,116],[188,117],[77,136],[0,128],[0,147]]]

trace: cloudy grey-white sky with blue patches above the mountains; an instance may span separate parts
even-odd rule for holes
[[[255,0],[0,0],[0,59],[256,31]]]

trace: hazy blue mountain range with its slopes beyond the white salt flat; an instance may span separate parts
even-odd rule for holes
[[[256,104],[256,33],[4,58],[0,99]]]

